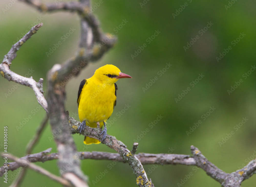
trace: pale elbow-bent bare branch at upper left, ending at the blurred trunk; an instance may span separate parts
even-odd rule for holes
[[[37,32],[37,30],[40,27],[42,27],[42,25],[43,25],[42,23],[39,23],[36,26],[32,27],[30,31],[23,36],[22,39],[20,39],[17,43],[15,43],[12,46],[12,48],[7,53],[7,55],[4,56],[3,62],[0,64],[0,73],[8,81],[14,81],[18,84],[22,84],[32,88],[36,94],[38,103],[46,110],[46,112],[48,112],[47,102],[42,92],[43,79],[40,79],[39,82],[37,83],[32,77],[30,78],[23,77],[10,70],[10,65],[12,64],[13,59],[17,56],[16,52],[29,38],[31,38],[33,34]]]

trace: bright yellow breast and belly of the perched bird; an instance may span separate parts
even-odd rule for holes
[[[87,79],[87,84],[84,85],[80,94],[78,106],[80,121],[85,120],[90,124],[107,120],[113,112],[115,101],[114,84]]]

